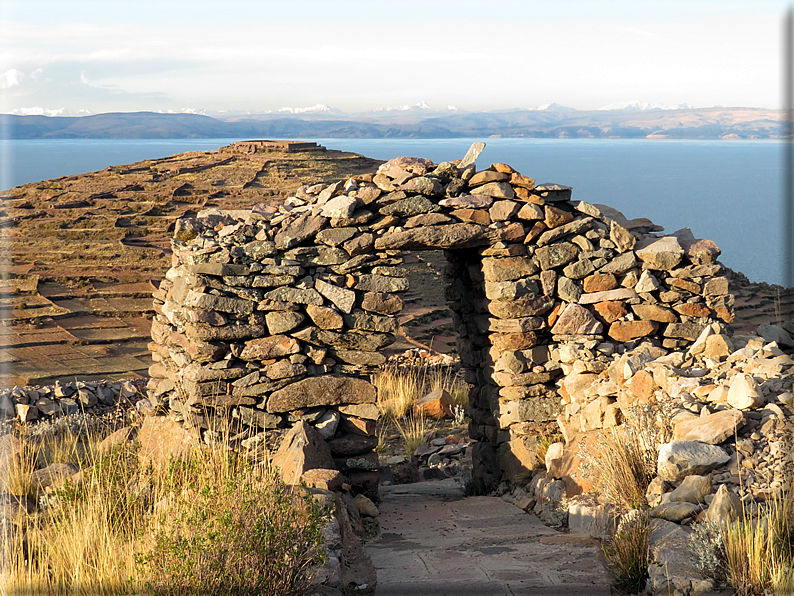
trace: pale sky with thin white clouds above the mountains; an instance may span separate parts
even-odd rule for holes
[[[776,108],[778,0],[0,0],[0,112]]]

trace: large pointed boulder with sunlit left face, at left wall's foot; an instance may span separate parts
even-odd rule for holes
[[[286,484],[300,484],[301,476],[314,469],[333,470],[334,459],[328,444],[313,426],[298,422],[284,436],[273,456],[273,465]]]

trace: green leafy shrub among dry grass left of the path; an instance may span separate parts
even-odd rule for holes
[[[326,510],[311,496],[261,469],[174,462],[181,488],[159,515],[151,550],[140,558],[156,594],[295,594],[324,562]]]

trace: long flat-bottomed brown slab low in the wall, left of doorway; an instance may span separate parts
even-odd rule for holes
[[[267,401],[267,411],[289,412],[313,406],[339,404],[374,404],[377,391],[374,385],[353,377],[309,377],[273,393]]]

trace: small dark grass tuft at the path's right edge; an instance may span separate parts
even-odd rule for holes
[[[621,518],[612,539],[604,545],[604,554],[615,567],[618,587],[632,593],[645,589],[650,563],[650,534],[647,513],[633,510]]]

